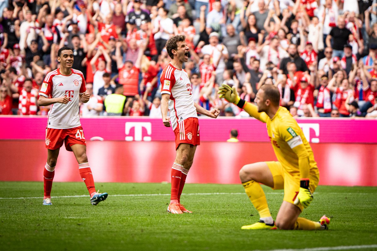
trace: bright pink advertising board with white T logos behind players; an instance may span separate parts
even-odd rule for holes
[[[377,120],[297,119],[311,143],[377,143]],[[231,129],[239,140],[268,142],[266,126],[253,118],[199,117],[201,141],[226,141]],[[0,116],[0,140],[41,140],[47,117]],[[148,117],[81,118],[87,140],[171,141],[174,134],[161,119]]]

